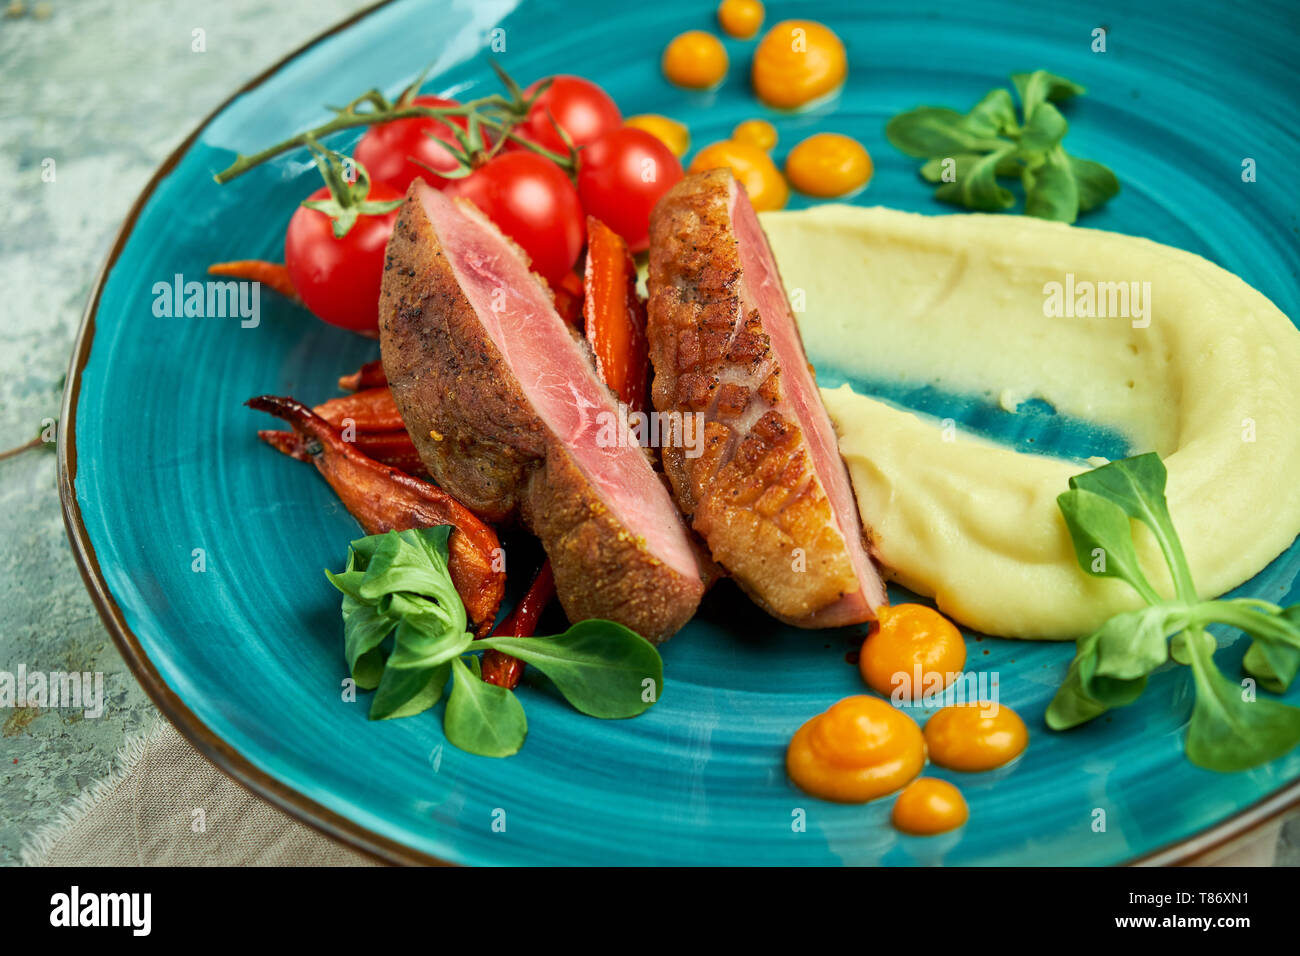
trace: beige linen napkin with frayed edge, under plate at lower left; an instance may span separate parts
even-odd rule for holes
[[[127,739],[114,771],[34,832],[29,866],[372,866],[254,796],[164,719]]]

